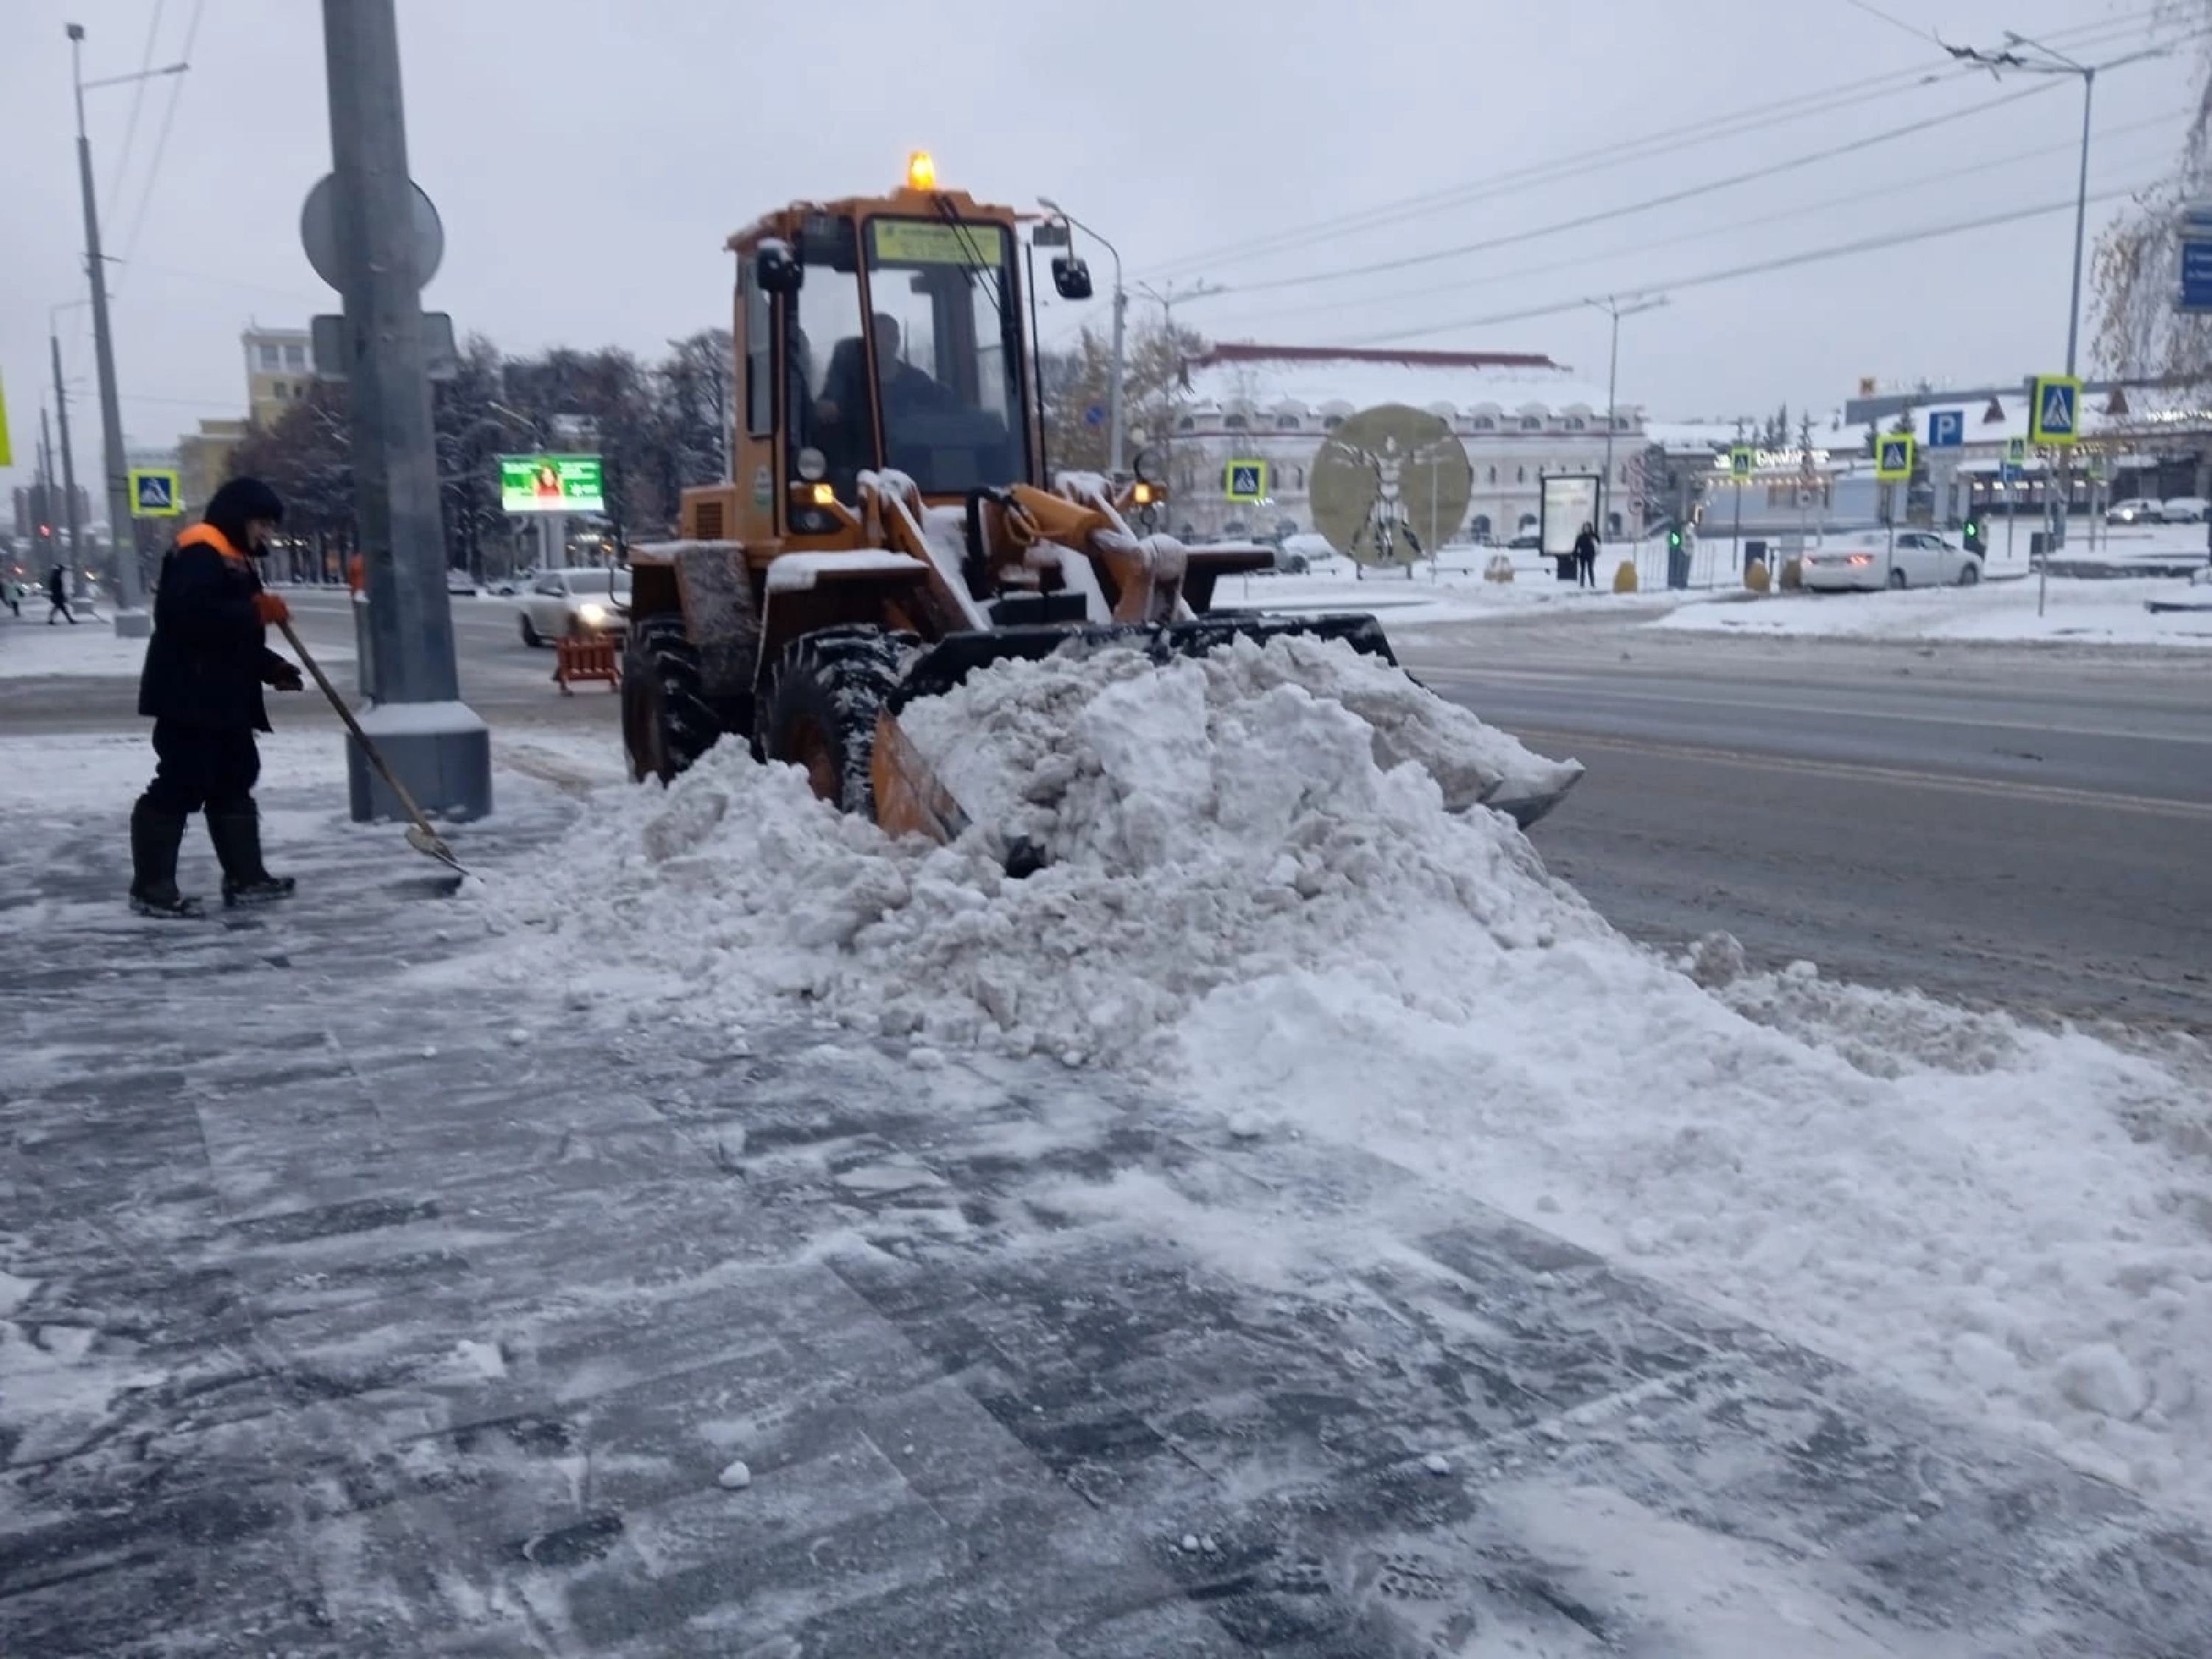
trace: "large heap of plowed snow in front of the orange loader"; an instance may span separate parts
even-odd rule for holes
[[[1391,681],[1312,641],[978,675],[909,721],[978,821],[956,847],[726,748],[495,878],[507,949],[467,971],[540,982],[551,931],[641,1020],[805,1006],[931,1060],[1141,1068],[1225,1148],[1296,1126],[1398,1159],[2212,1513],[2192,1057],[1745,978],[1728,940],[1666,962],[1447,810],[1544,763]],[[1013,832],[1053,856],[1029,880]]]

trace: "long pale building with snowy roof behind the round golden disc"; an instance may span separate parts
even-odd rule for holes
[[[1473,467],[1467,522],[1447,540],[1504,542],[1537,524],[1546,473],[1608,471],[1606,389],[1531,352],[1374,352],[1318,345],[1214,345],[1186,365],[1168,451],[1179,535],[1276,535],[1314,529],[1312,467],[1360,409],[1402,403],[1444,420]],[[1632,462],[1644,411],[1613,411],[1608,520],[1635,533]],[[1230,500],[1232,462],[1265,462],[1265,498]]]

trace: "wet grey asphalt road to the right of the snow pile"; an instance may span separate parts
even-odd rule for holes
[[[2042,1015],[2212,1031],[2212,661],[1409,635],[1442,695],[1588,765],[1535,832],[1626,931]]]

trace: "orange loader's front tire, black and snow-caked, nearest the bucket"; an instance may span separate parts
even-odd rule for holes
[[[787,644],[754,723],[761,759],[803,768],[814,794],[874,821],[876,717],[914,644],[914,635],[858,626],[823,628]]]

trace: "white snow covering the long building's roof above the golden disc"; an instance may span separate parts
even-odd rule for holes
[[[1371,352],[1329,345],[1212,347],[1188,365],[1190,400],[1199,407],[1234,403],[1274,409],[1371,409],[1407,403],[1416,409],[1451,405],[1495,414],[1566,411],[1604,414],[1606,387],[1575,378],[1573,369],[1535,352]],[[1621,405],[1635,414],[1632,405]]]

